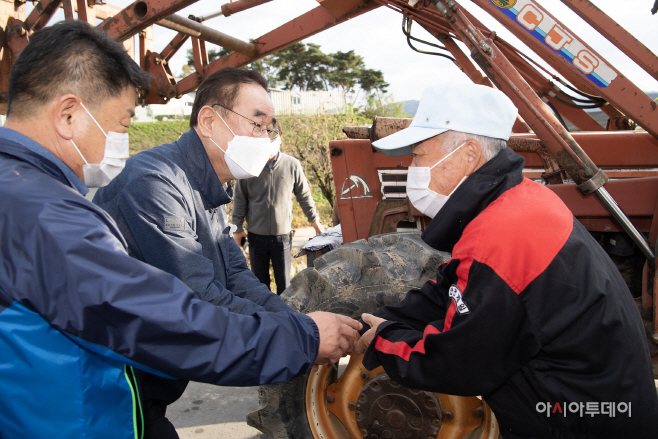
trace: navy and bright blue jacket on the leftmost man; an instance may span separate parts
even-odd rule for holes
[[[136,437],[130,366],[232,386],[310,369],[319,335],[309,317],[245,316],[199,300],[131,258],[114,221],[65,171],[0,128],[3,439]]]

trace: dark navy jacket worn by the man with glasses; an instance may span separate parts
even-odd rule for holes
[[[224,189],[194,129],[131,157],[94,203],[117,222],[128,253],[173,274],[229,311],[291,311],[247,267],[233,239]]]

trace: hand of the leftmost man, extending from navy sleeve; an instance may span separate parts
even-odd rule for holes
[[[336,363],[340,357],[351,352],[363,325],[340,314],[317,311],[308,314],[318,326],[320,348],[315,364]]]

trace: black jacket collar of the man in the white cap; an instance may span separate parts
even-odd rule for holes
[[[450,196],[421,235],[431,247],[452,252],[466,226],[503,192],[523,181],[525,160],[510,148],[471,174]]]

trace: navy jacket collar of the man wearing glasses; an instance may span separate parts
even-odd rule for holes
[[[219,181],[196,130],[190,128],[178,139],[178,145],[183,154],[185,165],[189,170],[189,175],[194,179],[197,188],[199,188],[199,193],[208,207],[215,208],[230,203],[233,199],[233,187],[229,182],[226,189],[224,189],[224,185]]]

